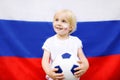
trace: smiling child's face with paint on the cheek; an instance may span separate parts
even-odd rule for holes
[[[53,28],[59,35],[68,35],[71,30],[66,16],[64,13],[59,13],[54,17]]]

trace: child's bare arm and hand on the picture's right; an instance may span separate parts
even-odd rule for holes
[[[85,57],[82,48],[79,48],[79,49],[78,49],[78,57],[79,57],[79,59],[80,59],[80,61],[78,61],[78,63],[80,64],[80,67],[75,68],[75,70],[78,70],[78,71],[75,73],[75,76],[76,76],[76,77],[82,76],[82,75],[88,70],[88,68],[89,68],[88,60],[87,60],[87,58]]]

